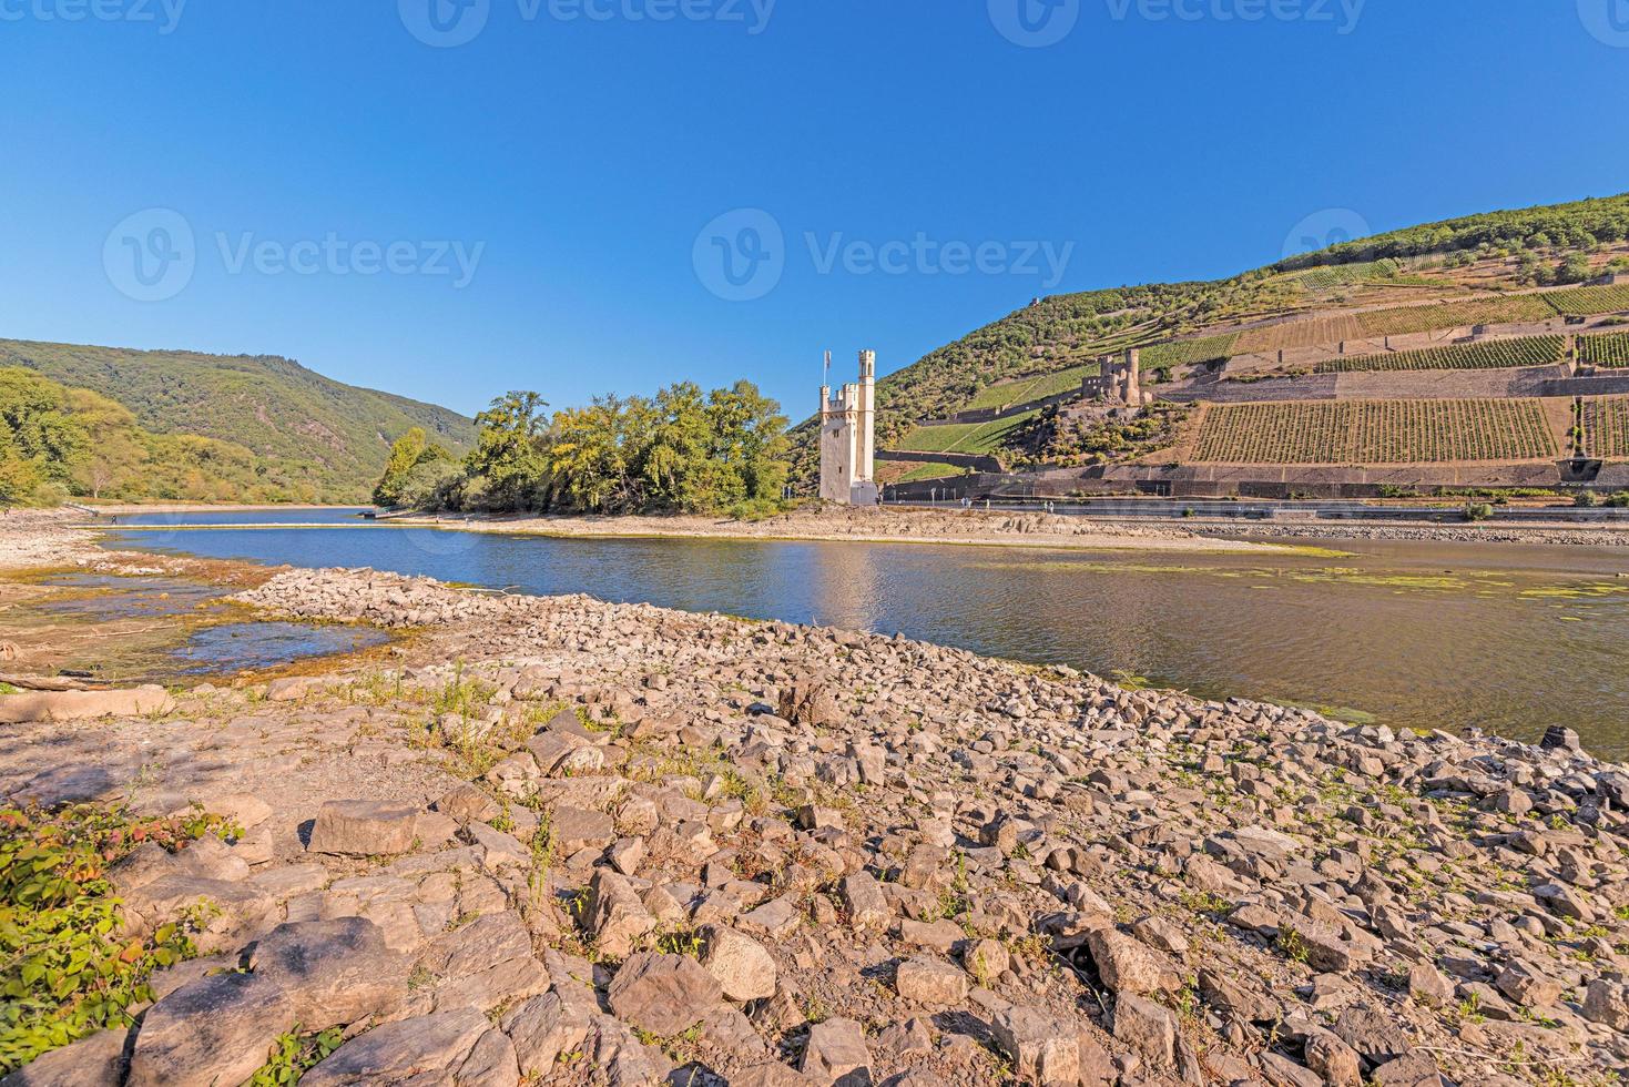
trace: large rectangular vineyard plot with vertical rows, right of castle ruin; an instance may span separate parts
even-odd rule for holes
[[[1194,463],[1414,464],[1561,455],[1536,399],[1311,401],[1205,407]]]

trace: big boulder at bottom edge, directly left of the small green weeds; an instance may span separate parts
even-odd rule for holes
[[[241,1084],[295,1022],[293,1001],[275,981],[239,973],[200,978],[147,1010],[129,1087]]]

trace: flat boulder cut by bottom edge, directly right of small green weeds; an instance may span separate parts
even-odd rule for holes
[[[357,1035],[310,1072],[301,1087],[355,1084],[451,1084],[492,1028],[472,1007],[401,1019]],[[225,1082],[225,1080],[223,1080]],[[236,1080],[231,1080],[236,1082]]]

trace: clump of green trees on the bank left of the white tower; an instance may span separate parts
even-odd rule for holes
[[[714,513],[780,507],[787,419],[751,381],[689,381],[653,398],[601,396],[549,414],[515,391],[476,416],[476,447],[458,460],[414,427],[391,448],[373,500],[420,510],[494,513]]]

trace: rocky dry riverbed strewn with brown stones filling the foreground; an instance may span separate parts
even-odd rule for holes
[[[244,828],[114,880],[207,958],[18,1084],[1605,1084],[1629,776],[935,645],[367,570],[399,668],[8,727],[0,795]]]

